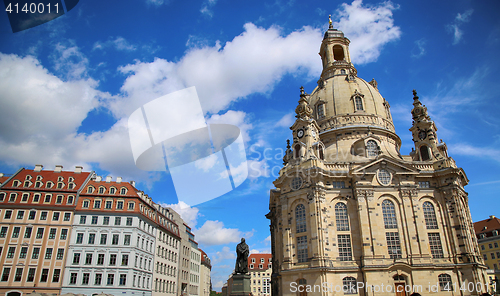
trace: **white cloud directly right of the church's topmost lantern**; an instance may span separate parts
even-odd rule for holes
[[[376,61],[385,44],[399,39],[401,30],[392,18],[395,9],[390,1],[363,6],[362,0],[355,0],[337,10],[339,21],[334,27],[351,40],[349,51],[354,64]]]

